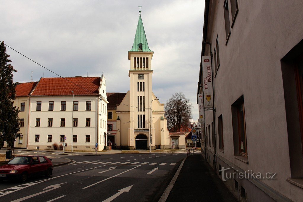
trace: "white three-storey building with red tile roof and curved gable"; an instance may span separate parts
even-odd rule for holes
[[[22,147],[52,149],[54,143],[64,143],[66,150],[95,151],[98,143],[98,151],[104,149],[108,101],[103,75],[41,78],[31,86],[20,84],[16,88],[19,100],[24,95],[28,99],[28,121],[24,122],[28,135],[26,141],[23,136]],[[21,103],[18,101],[20,107]],[[22,111],[19,115],[21,118]]]

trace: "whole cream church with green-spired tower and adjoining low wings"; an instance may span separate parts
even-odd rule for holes
[[[130,90],[107,93],[107,145],[113,148],[185,148],[184,134],[169,134],[164,104],[152,92],[153,54],[148,47],[140,11],[134,44],[128,51]]]

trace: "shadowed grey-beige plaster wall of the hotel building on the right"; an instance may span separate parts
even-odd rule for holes
[[[231,1],[228,2],[230,5]],[[218,116],[222,114],[224,133],[224,152],[217,151],[216,169],[224,160],[225,163],[221,163],[221,166],[238,167],[243,171],[261,172],[263,175],[267,172],[277,173],[275,180],[241,180],[239,186],[245,188],[248,201],[260,200],[267,195],[276,197],[275,200],[285,200],[283,197],[287,197],[301,201],[303,182],[300,187],[286,180],[291,177],[291,167],[281,59],[303,39],[303,31],[298,29],[303,27],[303,21],[300,20],[303,17],[303,4],[300,1],[237,2],[239,11],[227,41],[224,1],[210,1],[206,41],[211,42],[214,53],[218,38],[220,52],[220,66],[216,75],[213,67],[215,128],[218,131]],[[229,19],[232,24],[231,13]],[[209,55],[208,45],[205,55]],[[248,150],[246,159],[235,152],[237,145],[231,110],[231,105],[242,95]],[[205,121],[206,126],[210,125],[212,133],[211,111],[205,112]],[[212,144],[212,135],[210,137]],[[218,138],[218,132],[216,137]],[[216,146],[219,147],[218,140]],[[214,147],[211,145],[207,148],[207,159],[209,161],[211,158],[212,165]],[[255,186],[250,186],[249,183]],[[262,186],[258,186],[258,183]],[[234,189],[231,186],[229,188]],[[238,192],[235,195],[239,197]]]

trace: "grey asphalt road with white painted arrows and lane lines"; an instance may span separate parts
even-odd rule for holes
[[[50,178],[3,181],[0,201],[158,201],[186,153],[63,157],[73,163],[54,167]]]

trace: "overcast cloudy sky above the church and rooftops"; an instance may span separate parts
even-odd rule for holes
[[[101,76],[107,92],[129,90],[131,50],[141,17],[152,58],[153,92],[161,103],[183,92],[193,103],[199,76],[204,1],[1,1],[0,41],[63,77]],[[14,81],[57,77],[7,47]]]

